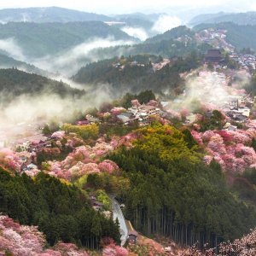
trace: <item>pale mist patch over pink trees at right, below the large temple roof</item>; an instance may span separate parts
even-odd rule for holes
[[[229,86],[229,79],[223,73],[201,71],[198,74],[195,71],[188,75],[186,89],[172,102],[172,109],[186,108],[193,112],[200,106],[222,108],[233,96],[237,96],[250,79],[248,73],[236,72],[234,75],[239,80]]]

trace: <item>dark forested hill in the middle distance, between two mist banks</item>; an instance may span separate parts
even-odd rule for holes
[[[192,53],[186,58],[177,58],[160,70],[154,71],[151,61],[160,61],[154,55],[135,55],[97,61],[82,67],[74,81],[80,84],[112,84],[119,92],[154,90],[177,95],[183,91],[183,79],[179,73],[195,69],[201,64],[201,55]],[[136,61],[137,64],[133,64]],[[123,68],[120,68],[123,66]]]

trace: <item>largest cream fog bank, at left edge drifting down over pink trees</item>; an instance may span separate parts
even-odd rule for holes
[[[38,127],[52,120],[68,122],[78,111],[84,113],[88,108],[98,108],[102,102],[113,100],[114,93],[108,85],[102,84],[97,89],[87,85],[86,91],[86,95],[75,100],[46,92],[38,96],[13,97],[8,106],[0,108],[0,148],[3,148],[4,142],[38,134]],[[0,102],[2,97],[3,93]]]

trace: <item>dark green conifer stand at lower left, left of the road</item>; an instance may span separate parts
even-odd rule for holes
[[[0,167],[0,212],[38,225],[50,246],[61,240],[97,248],[105,236],[119,242],[118,224],[93,210],[84,192],[43,172],[32,179]]]

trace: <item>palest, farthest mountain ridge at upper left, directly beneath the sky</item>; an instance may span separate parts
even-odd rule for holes
[[[111,20],[111,18],[106,15],[96,15],[92,13],[86,13],[78,10],[64,9],[59,7],[0,10],[0,21],[2,23],[6,23],[9,21],[42,23],[89,20],[108,21]]]

